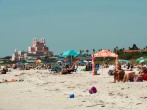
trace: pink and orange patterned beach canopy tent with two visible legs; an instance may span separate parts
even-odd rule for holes
[[[97,52],[92,55],[92,75],[95,75],[95,64],[94,64],[95,57],[115,57],[116,58],[116,61],[115,61],[116,67],[118,65],[118,55],[116,53],[113,53],[109,50],[102,50],[102,51]]]

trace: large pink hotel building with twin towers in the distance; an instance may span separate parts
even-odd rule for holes
[[[17,52],[17,50],[15,49],[15,52],[12,54],[12,61],[20,61],[21,58],[36,59],[38,57],[44,56],[53,56],[53,52],[50,51],[46,46],[44,38],[41,38],[40,41],[34,38],[32,46],[28,47],[28,52]]]

